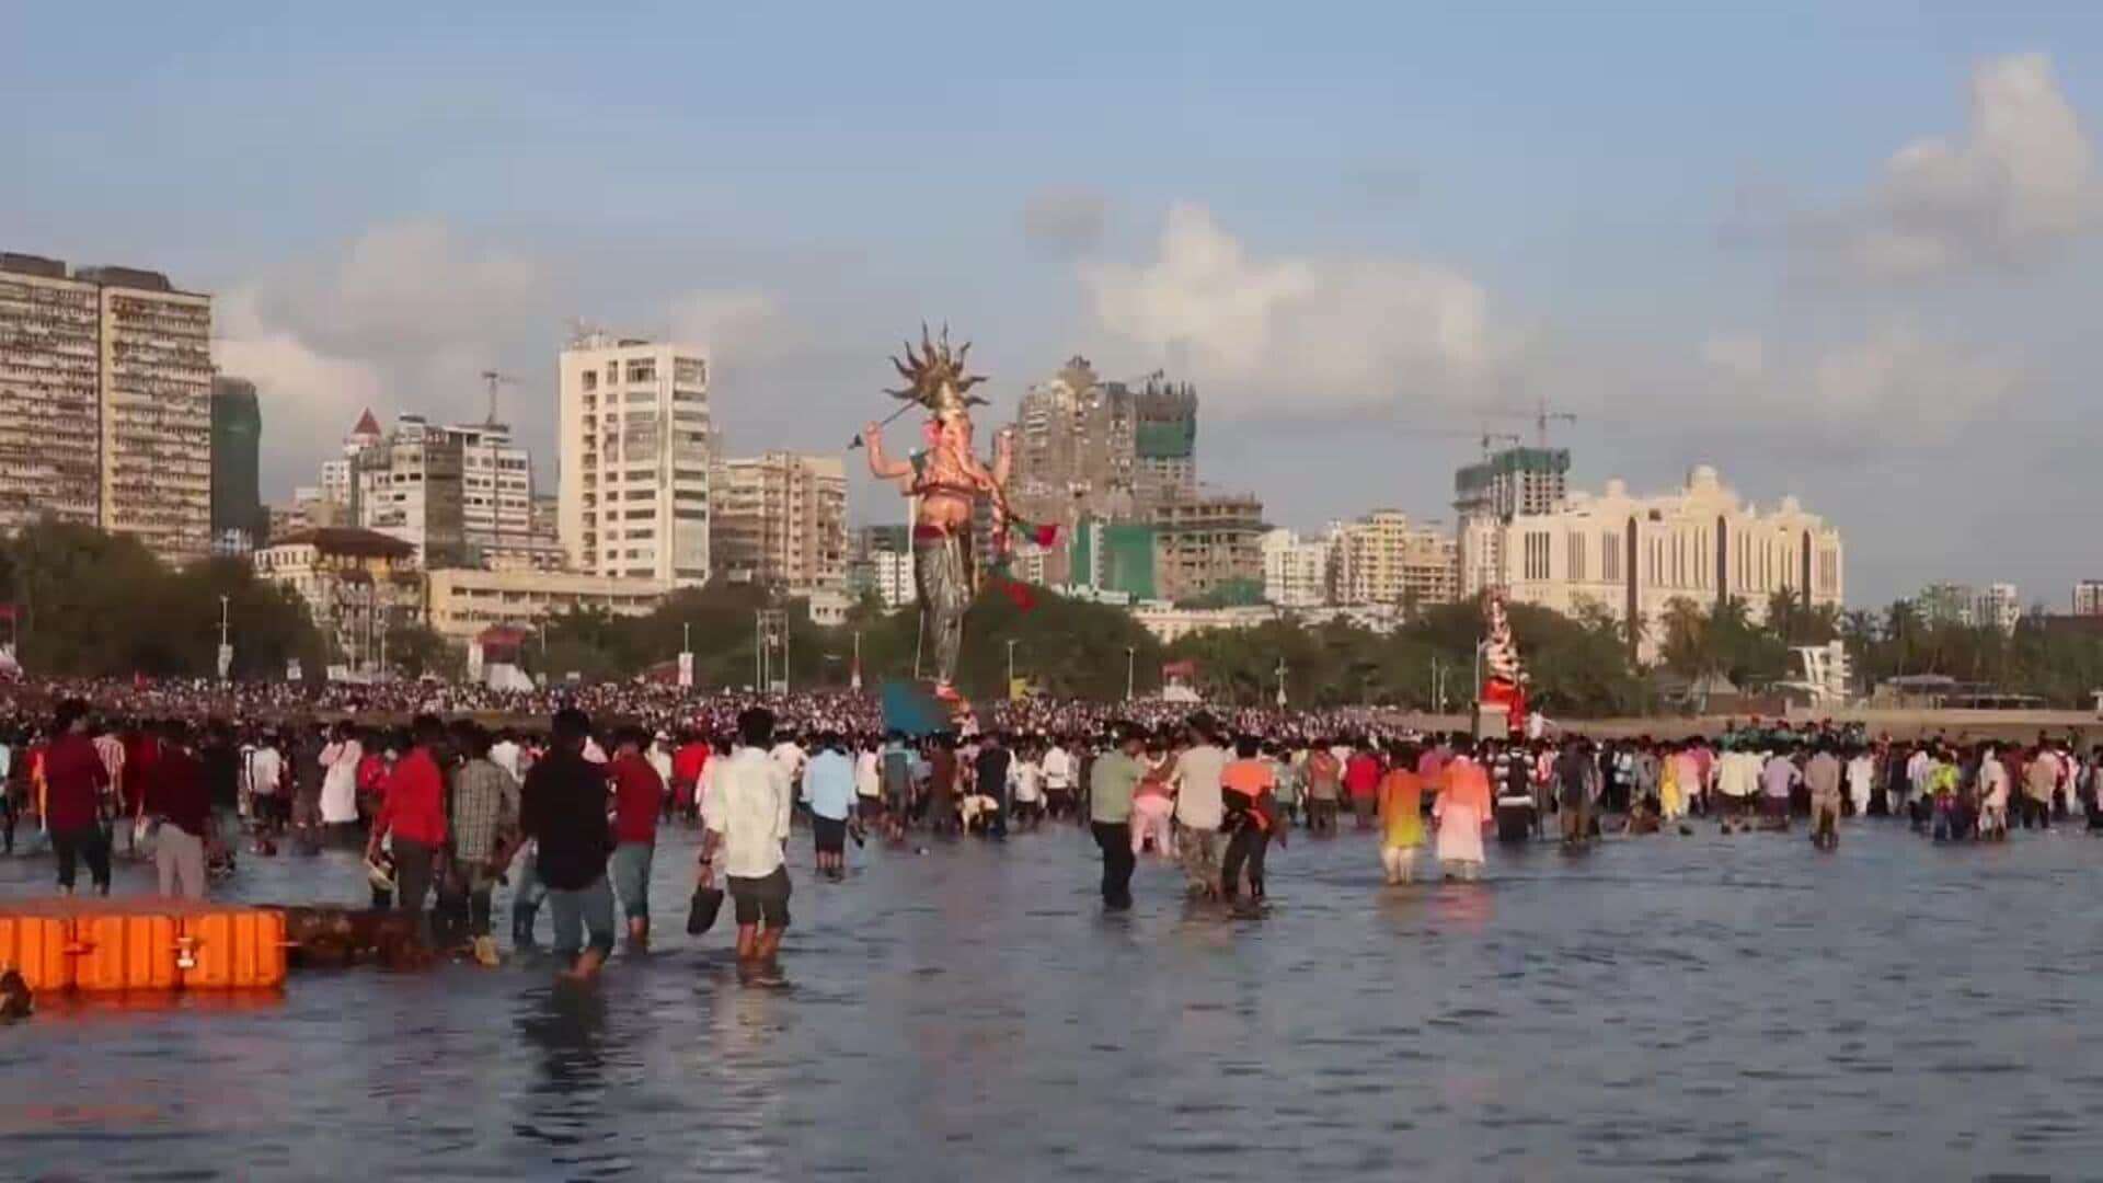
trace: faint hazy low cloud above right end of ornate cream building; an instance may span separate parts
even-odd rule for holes
[[[2006,408],[2023,381],[2013,364],[1903,322],[1773,360],[1758,337],[1712,337],[1701,354],[1716,394],[1706,415],[1828,444],[1947,444]]]

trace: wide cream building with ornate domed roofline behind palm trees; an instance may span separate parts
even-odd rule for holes
[[[1676,600],[1701,610],[1737,600],[1762,623],[1777,594],[1806,608],[1838,608],[1846,592],[1840,530],[1794,497],[1758,509],[1708,465],[1657,497],[1630,497],[1626,484],[1609,480],[1598,497],[1571,495],[1554,514],[1516,516],[1502,554],[1499,583],[1512,602],[1634,619],[1642,661],[1657,655]]]

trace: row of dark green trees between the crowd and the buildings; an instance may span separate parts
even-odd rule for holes
[[[1033,589],[1024,608],[986,592],[972,610],[959,682],[978,699],[1007,690],[1014,674],[1054,697],[1121,699],[1159,693],[1163,667],[1190,663],[1211,701],[1272,703],[1283,676],[1293,705],[1380,703],[1407,709],[1466,709],[1476,686],[1474,602],[1432,604],[1409,623],[1377,634],[1344,621],[1304,623],[1285,615],[1249,629],[1211,629],[1157,642],[1117,606]],[[0,541],[0,640],[19,638],[17,659],[34,674],[124,678],[210,676],[217,669],[219,606],[227,598],[236,678],[282,678],[299,659],[309,678],[341,655],[313,627],[297,594],[254,577],[240,558],[172,568],[137,539],[55,520]],[[843,625],[820,627],[808,606],[751,585],[681,589],[644,617],[566,613],[532,629],[524,663],[553,680],[671,676],[681,640],[692,638],[696,680],[738,688],[757,680],[757,613],[787,608],[787,676],[795,688],[864,684],[925,674],[915,610],[885,613],[875,598],[854,604]],[[1809,608],[1775,596],[1754,619],[1743,600],[1701,606],[1672,602],[1657,619],[1630,625],[1602,606],[1558,615],[1510,606],[1512,631],[1531,676],[1533,701],[1563,716],[1651,714],[1668,703],[1659,671],[1716,674],[1758,690],[1798,674],[1792,648],[1840,640],[1863,684],[1899,674],[1945,674],[2053,705],[2088,705],[2103,688],[2103,631],[2025,615],[2013,631],[1924,619],[1899,600],[1882,613]],[[13,631],[11,631],[13,629]],[[1653,634],[1655,629],[1655,634]],[[1009,644],[1012,642],[1012,644]],[[1634,642],[1655,642],[1655,663],[1632,659]],[[387,636],[400,676],[458,676],[463,648],[423,623]],[[770,661],[780,661],[772,653]],[[776,665],[774,674],[780,674]]]

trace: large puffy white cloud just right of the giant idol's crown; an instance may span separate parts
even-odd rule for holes
[[[1512,352],[1468,276],[1382,255],[1260,259],[1195,204],[1169,210],[1155,261],[1083,265],[1081,282],[1104,330],[1226,415],[1462,406]]]

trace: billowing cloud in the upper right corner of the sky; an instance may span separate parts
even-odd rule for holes
[[[1926,280],[2031,263],[2103,213],[2095,147],[2042,53],[1981,61],[1962,141],[1918,139],[1853,210],[1798,215],[1792,246],[1819,272]]]

